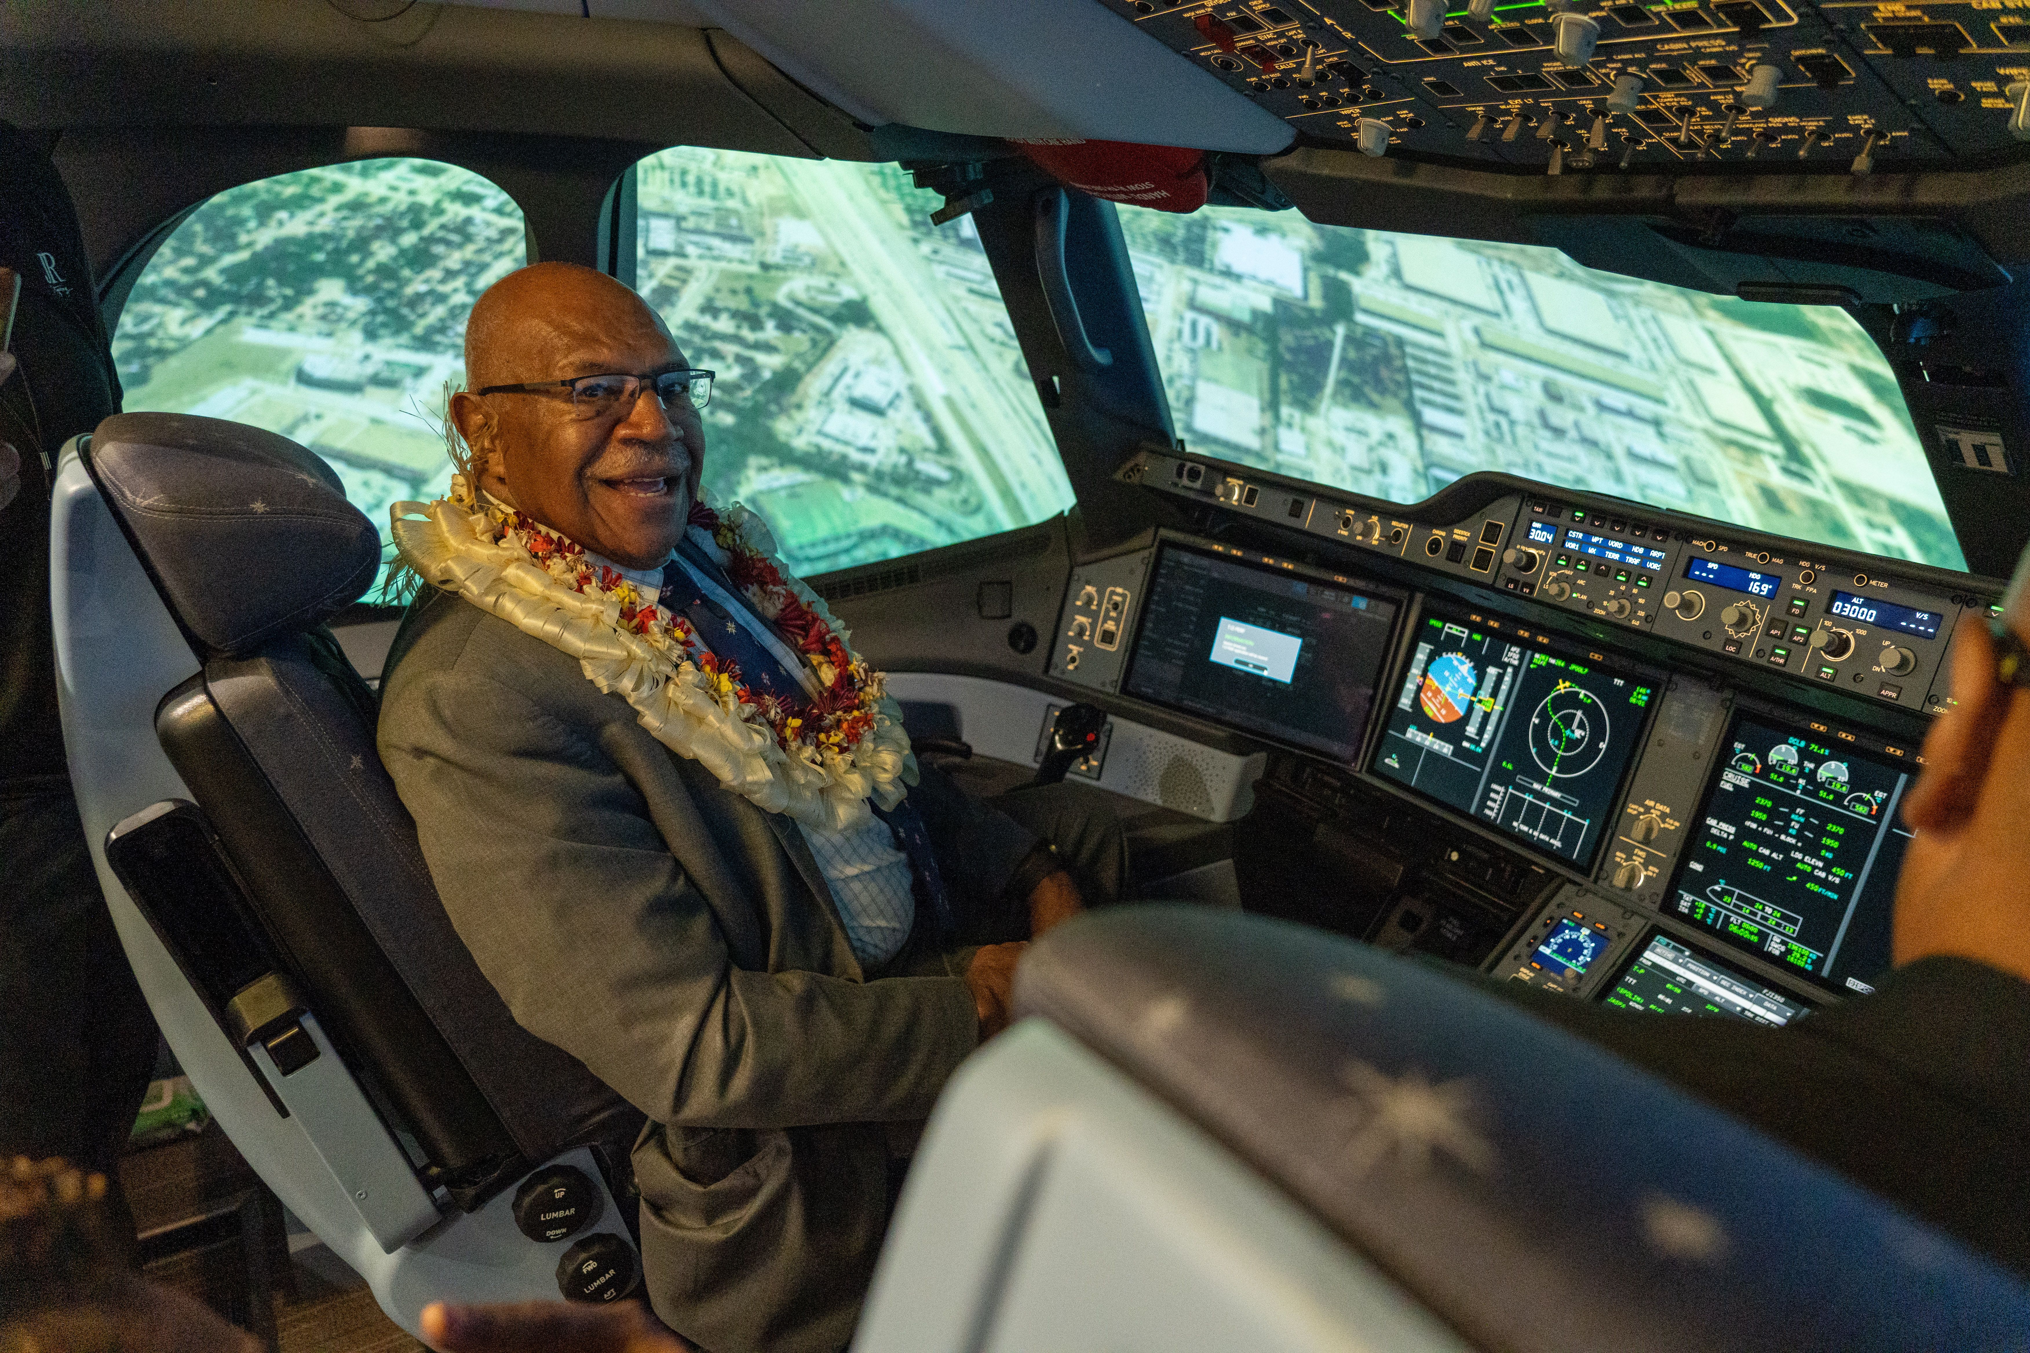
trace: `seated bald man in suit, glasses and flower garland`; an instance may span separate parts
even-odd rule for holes
[[[428,586],[382,757],[516,1018],[650,1118],[658,1314],[840,1349],[913,1124],[1007,1022],[1021,941],[1121,888],[1121,832],[916,765],[767,527],[700,501],[710,373],[631,290],[524,268],[465,357],[463,475],[398,509]]]

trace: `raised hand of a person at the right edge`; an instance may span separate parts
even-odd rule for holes
[[[2030,982],[2030,690],[1995,680],[1983,625],[1959,627],[1953,700],[1902,803],[1896,964],[1951,953]]]

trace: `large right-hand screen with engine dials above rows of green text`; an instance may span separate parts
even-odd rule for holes
[[[1723,751],[1665,911],[1819,986],[1872,992],[1890,966],[1908,771],[1756,714]]]

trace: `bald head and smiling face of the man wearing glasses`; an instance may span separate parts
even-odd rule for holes
[[[507,274],[467,329],[473,389],[686,365],[662,318],[613,278],[568,264]],[[704,471],[704,424],[644,385],[631,406],[579,418],[564,387],[457,394],[451,416],[479,485],[503,503],[627,568],[676,548]]]

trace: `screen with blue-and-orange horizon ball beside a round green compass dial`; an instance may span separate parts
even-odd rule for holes
[[[1374,773],[1585,868],[1654,686],[1427,611]]]

